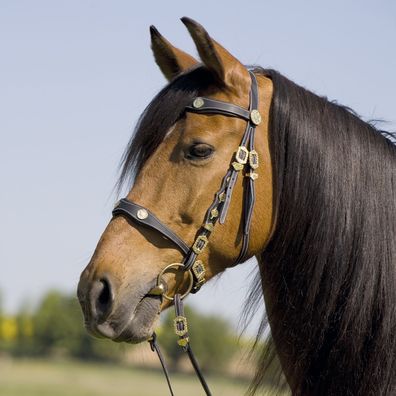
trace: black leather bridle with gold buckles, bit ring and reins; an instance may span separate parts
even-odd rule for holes
[[[205,97],[196,97],[191,105],[185,108],[185,111],[197,114],[220,114],[229,117],[237,117],[247,122],[246,129],[243,134],[241,143],[235,153],[231,162],[231,166],[225,174],[220,189],[216,192],[213,203],[209,206],[204,222],[198,230],[197,237],[190,247],[179,236],[177,236],[170,228],[161,222],[153,213],[147,208],[140,206],[128,199],[121,199],[113,210],[113,216],[124,215],[138,225],[149,227],[163,237],[173,242],[183,253],[184,259],[181,263],[172,263],[167,265],[158,275],[156,286],[150,290],[148,295],[157,295],[169,301],[173,301],[175,305],[176,317],[174,319],[175,333],[178,335],[178,344],[187,352],[191,363],[195,369],[196,374],[207,395],[211,395],[208,385],[202,376],[197,361],[192,353],[189,337],[187,319],[184,316],[183,298],[189,293],[196,293],[205,283],[205,265],[198,256],[206,248],[209,237],[213,232],[214,226],[219,222],[224,224],[228,209],[230,206],[232,193],[238,179],[238,175],[242,170],[245,170],[245,184],[243,196],[243,217],[242,217],[242,247],[235,265],[243,262],[249,248],[250,240],[250,225],[252,221],[253,207],[255,202],[255,188],[254,181],[258,174],[256,169],[259,166],[259,158],[257,151],[254,150],[254,135],[256,126],[261,123],[261,115],[258,111],[258,85],[256,76],[249,71],[251,78],[251,88],[249,94],[249,109],[226,103],[219,100],[214,100]],[[169,296],[166,290],[166,283],[163,280],[163,275],[171,270],[180,270],[188,274],[189,285],[187,290],[181,295],[176,293],[174,297]],[[164,364],[164,360],[156,342],[156,335],[149,340],[151,348],[156,351],[160,359],[166,380],[168,382],[169,390],[173,395],[173,390],[169,381],[168,371]]]

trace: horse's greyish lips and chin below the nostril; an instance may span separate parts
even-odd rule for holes
[[[136,305],[132,314],[127,309],[121,308],[117,317],[113,316],[88,330],[96,337],[110,338],[115,342],[138,344],[147,341],[158,324],[161,311],[160,297],[146,295]]]

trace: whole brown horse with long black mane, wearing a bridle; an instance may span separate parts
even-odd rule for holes
[[[175,295],[256,257],[247,309],[264,297],[292,394],[394,395],[396,146],[351,109],[245,67],[200,24],[182,22],[201,61],[150,28],[169,83],[124,153],[126,209],[81,274],[86,328],[148,340]],[[254,147],[241,143],[248,130]],[[263,351],[251,394],[265,366]]]

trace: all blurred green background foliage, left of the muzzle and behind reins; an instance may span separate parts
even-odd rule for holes
[[[225,320],[207,316],[186,307],[191,345],[204,370],[225,371],[236,349],[236,337]],[[173,369],[177,369],[184,353],[173,332],[173,310],[165,315],[159,329],[163,345]],[[83,317],[75,296],[59,291],[47,292],[32,310],[23,306],[11,317],[0,310],[0,352],[15,356],[65,356],[85,360],[120,361],[123,346],[90,336],[83,326]]]

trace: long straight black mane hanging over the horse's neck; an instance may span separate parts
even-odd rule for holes
[[[260,72],[274,85],[277,211],[260,265],[293,395],[393,395],[396,146],[349,109]],[[252,389],[262,380],[258,371]]]

